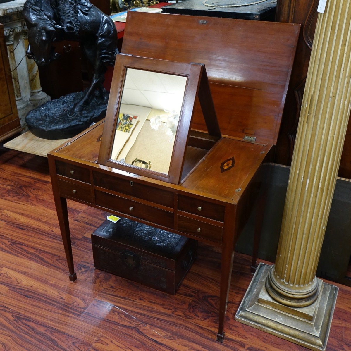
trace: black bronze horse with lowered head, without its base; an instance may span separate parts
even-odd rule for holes
[[[103,97],[106,66],[113,66],[118,54],[117,31],[111,18],[87,0],[27,0],[22,13],[28,27],[27,55],[38,66],[59,57],[52,43],[61,40],[79,41],[92,63],[91,85],[75,102],[72,113],[88,106],[96,90]]]

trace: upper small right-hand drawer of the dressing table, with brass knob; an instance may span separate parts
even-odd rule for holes
[[[178,195],[178,210],[224,222],[224,206]]]

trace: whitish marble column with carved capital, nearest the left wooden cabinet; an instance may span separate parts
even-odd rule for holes
[[[5,41],[6,41],[7,52],[8,52],[8,61],[10,64],[10,69],[12,74],[16,105],[17,105],[17,109],[20,110],[21,108],[25,108],[28,102],[22,99],[22,96],[21,96],[21,89],[20,89],[20,84],[18,79],[17,64],[16,64],[16,58],[15,58],[15,35],[16,34],[19,34],[18,28],[10,28],[5,30]]]

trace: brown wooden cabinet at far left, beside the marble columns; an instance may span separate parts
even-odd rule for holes
[[[0,141],[21,130],[7,57],[4,26],[0,24]]]

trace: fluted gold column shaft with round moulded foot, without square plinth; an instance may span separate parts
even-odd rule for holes
[[[350,115],[351,6],[318,17],[285,200],[276,265],[266,288],[283,304],[318,297],[316,270]]]

